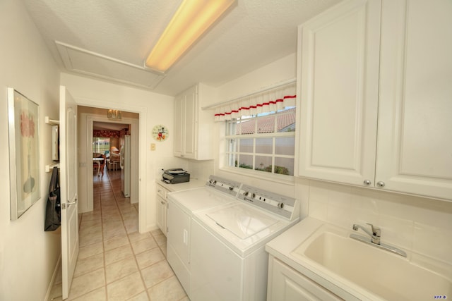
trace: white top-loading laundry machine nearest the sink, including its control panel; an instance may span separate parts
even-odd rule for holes
[[[299,221],[299,202],[245,185],[237,199],[194,213],[192,301],[266,300],[266,242]]]

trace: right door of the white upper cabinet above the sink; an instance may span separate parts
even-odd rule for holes
[[[383,1],[376,181],[452,199],[452,1]]]

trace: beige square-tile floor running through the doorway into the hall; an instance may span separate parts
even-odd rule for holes
[[[165,259],[165,235],[138,233],[138,204],[123,197],[120,172],[94,173],[93,179],[94,210],[79,216],[80,251],[68,300],[189,300]],[[51,300],[61,300],[61,276],[56,282]]]

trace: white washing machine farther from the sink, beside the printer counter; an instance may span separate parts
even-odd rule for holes
[[[237,202],[240,183],[210,176],[202,188],[194,188],[168,194],[167,211],[167,261],[191,296],[191,216],[200,209]]]

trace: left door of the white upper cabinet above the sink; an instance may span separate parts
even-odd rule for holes
[[[344,1],[299,27],[299,176],[374,179],[380,12],[379,0]]]

